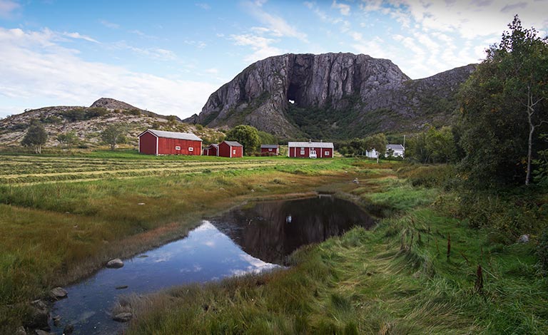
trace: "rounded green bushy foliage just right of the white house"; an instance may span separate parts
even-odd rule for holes
[[[439,130],[430,126],[427,131],[412,136],[405,148],[407,158],[420,163],[456,163],[458,148],[450,127]]]

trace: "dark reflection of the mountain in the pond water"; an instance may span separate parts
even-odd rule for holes
[[[305,244],[374,223],[357,205],[330,196],[255,202],[210,221],[246,253],[275,264],[284,264],[289,254]]]

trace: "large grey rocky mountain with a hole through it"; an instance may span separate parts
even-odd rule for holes
[[[183,120],[253,125],[282,138],[350,138],[447,125],[475,65],[411,80],[392,61],[352,53],[273,56],[251,64]]]

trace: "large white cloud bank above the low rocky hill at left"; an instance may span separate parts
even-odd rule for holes
[[[0,103],[16,100],[23,110],[35,105],[36,99],[87,105],[110,96],[156,113],[186,118],[199,112],[218,88],[218,83],[173,80],[84,61],[78,51],[59,46],[57,35],[48,29],[0,28]]]

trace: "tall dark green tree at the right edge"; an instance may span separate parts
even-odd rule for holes
[[[508,26],[460,91],[461,168],[488,185],[529,185],[535,131],[547,119],[548,43],[518,16]]]

